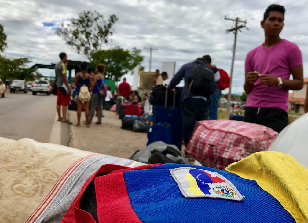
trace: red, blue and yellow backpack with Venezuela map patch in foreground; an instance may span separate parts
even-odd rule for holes
[[[308,222],[308,169],[258,152],[226,171],[186,164],[103,165],[63,223]]]

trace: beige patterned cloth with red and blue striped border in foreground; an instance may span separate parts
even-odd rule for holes
[[[87,178],[107,163],[143,165],[32,139],[0,138],[1,222],[60,222]]]

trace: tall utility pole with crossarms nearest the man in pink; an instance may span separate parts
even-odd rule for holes
[[[237,32],[241,31],[241,28],[246,27],[247,20],[241,21],[240,18],[236,17],[236,19],[229,19],[225,15],[225,20],[230,20],[235,22],[235,27],[226,30],[226,33],[233,32],[234,33],[234,45],[233,45],[233,56],[232,56],[232,63],[231,63],[231,72],[230,72],[230,87],[228,93],[228,102],[227,102],[227,119],[230,116],[230,103],[231,103],[231,86],[232,86],[232,76],[233,76],[233,67],[234,67],[234,59],[235,59],[235,51],[236,51],[236,40],[237,40]],[[244,23],[243,25],[239,25],[240,23]]]

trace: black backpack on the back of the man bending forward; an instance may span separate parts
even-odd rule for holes
[[[213,70],[196,62],[193,65],[193,73],[188,78],[188,83],[188,94],[192,92],[203,97],[209,97],[217,88]]]

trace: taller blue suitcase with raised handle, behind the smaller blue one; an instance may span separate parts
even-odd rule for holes
[[[173,94],[173,106],[167,106],[168,91],[165,95],[165,106],[156,105],[154,108],[154,123],[168,122],[171,125],[171,143],[182,149],[182,114],[181,108],[175,107],[176,92]],[[168,143],[167,143],[168,144]]]

